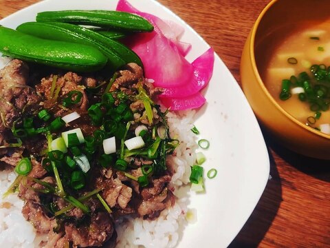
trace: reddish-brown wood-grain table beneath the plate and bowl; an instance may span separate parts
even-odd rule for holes
[[[0,19],[37,1],[0,0]],[[206,39],[238,82],[243,44],[269,1],[159,0]],[[272,179],[230,247],[330,247],[330,162],[293,154],[263,133]]]

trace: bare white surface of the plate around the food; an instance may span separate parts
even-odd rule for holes
[[[131,0],[141,11],[162,19],[177,21],[186,32],[182,41],[192,43],[187,59],[192,61],[209,45],[173,12],[153,0]],[[117,1],[46,0],[20,10],[0,21],[16,28],[34,21],[36,13],[45,10],[104,9],[114,10]],[[201,138],[210,141],[206,169],[215,167],[217,177],[206,179],[206,194],[193,194],[191,208],[197,209],[198,221],[188,225],[178,247],[227,247],[239,233],[258,203],[270,172],[267,148],[256,118],[241,88],[215,56],[214,72],[204,90],[208,103],[199,110],[196,126]]]

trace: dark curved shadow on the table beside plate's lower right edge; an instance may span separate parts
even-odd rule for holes
[[[274,220],[278,208],[282,201],[281,178],[272,154],[270,153],[270,175],[265,191],[256,205],[250,218],[245,223],[239,234],[229,245],[230,248],[236,247],[257,247],[263,240],[272,221]]]

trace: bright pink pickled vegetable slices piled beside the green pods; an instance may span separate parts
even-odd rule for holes
[[[126,45],[136,52],[144,64],[144,76],[155,80],[155,86],[163,87],[160,101],[171,110],[197,108],[206,99],[200,94],[213,72],[214,51],[210,48],[189,63],[184,56],[191,45],[179,41],[184,32],[179,24],[163,21],[153,14],[140,12],[126,0],[119,0],[118,11],[138,14],[154,26],[151,33],[137,34]]]

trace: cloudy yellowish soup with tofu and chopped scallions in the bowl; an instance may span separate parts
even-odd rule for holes
[[[289,114],[306,125],[330,134],[329,128],[329,132],[324,129],[327,126],[324,124],[330,123],[330,73],[329,79],[316,80],[315,73],[311,72],[313,65],[314,68],[319,68],[319,65],[321,68],[325,67],[325,72],[330,66],[330,19],[322,23],[299,25],[294,32],[289,34],[283,32],[282,37],[282,41],[276,45],[276,48],[272,48],[270,60],[261,70],[265,85],[278,104]],[[320,96],[315,93],[318,89],[316,88],[316,91],[314,90],[316,97],[313,100],[306,98],[308,84],[304,84],[304,80],[299,76],[301,72],[307,72],[311,87],[322,85],[318,86],[324,91],[318,92]],[[296,76],[300,82],[295,83],[296,79],[292,76]],[[283,91],[283,79],[290,80],[290,78],[289,95],[291,97],[283,100],[280,98]],[[300,93],[305,94],[305,101],[300,100],[304,99]],[[314,105],[314,103],[320,103],[319,98],[322,98],[324,104]]]

